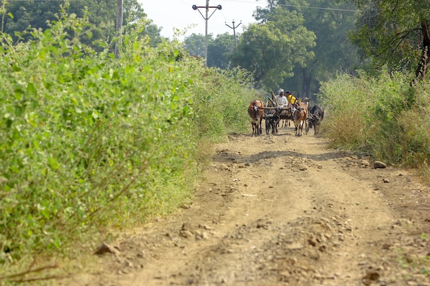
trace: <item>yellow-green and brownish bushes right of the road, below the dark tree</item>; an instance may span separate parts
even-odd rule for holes
[[[326,135],[333,147],[364,150],[374,158],[428,168],[429,82],[411,87],[411,77],[384,73],[370,78],[341,74],[321,86],[328,109]],[[326,118],[324,118],[326,120]]]

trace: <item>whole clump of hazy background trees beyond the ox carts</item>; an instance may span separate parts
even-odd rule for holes
[[[218,35],[215,40],[209,35],[209,67],[240,66],[253,73],[259,88],[288,86],[306,96],[317,93],[319,81],[339,69],[357,68],[357,50],[348,39],[354,25],[352,4],[268,1],[254,16],[260,23],[238,35],[238,47],[233,35]],[[185,47],[190,54],[205,57],[203,35],[185,38]]]

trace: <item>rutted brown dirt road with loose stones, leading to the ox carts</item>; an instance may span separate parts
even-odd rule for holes
[[[324,139],[231,134],[196,200],[65,285],[430,285],[430,189]]]

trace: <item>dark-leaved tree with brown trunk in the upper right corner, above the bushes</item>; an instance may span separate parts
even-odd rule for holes
[[[351,38],[375,64],[415,70],[421,80],[430,64],[430,2],[354,0],[360,13]],[[418,64],[416,64],[418,62]]]

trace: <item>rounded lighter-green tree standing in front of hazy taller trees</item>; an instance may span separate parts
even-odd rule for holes
[[[305,66],[314,56],[315,34],[303,26],[301,14],[275,8],[272,16],[249,25],[231,56],[231,62],[251,71],[262,88],[277,88],[293,75],[296,64]]]

